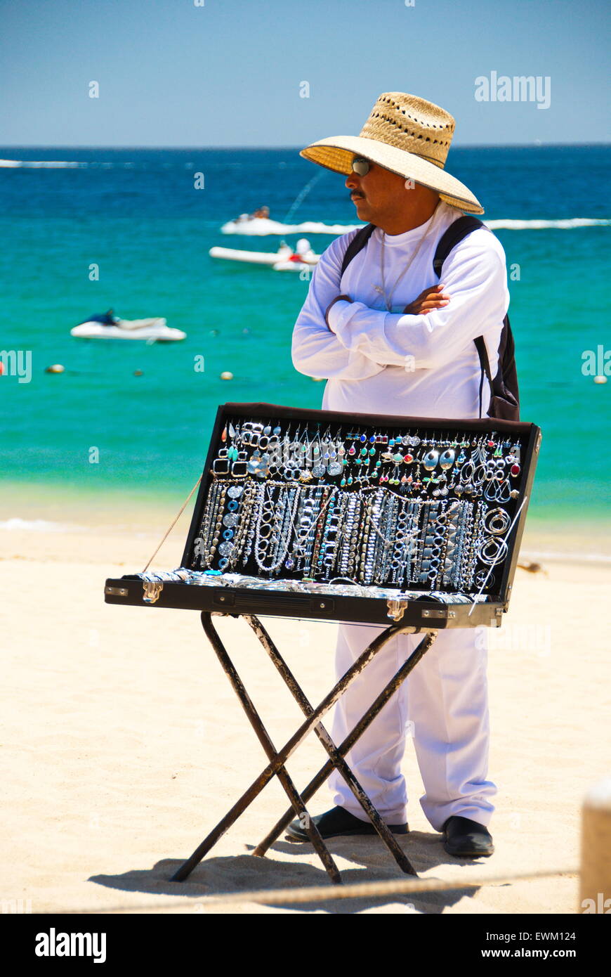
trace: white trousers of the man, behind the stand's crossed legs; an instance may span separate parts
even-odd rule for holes
[[[337,679],[383,630],[377,624],[340,624]],[[342,743],[422,637],[396,635],[348,686],[335,707],[334,743]],[[420,803],[430,825],[440,831],[452,815],[489,824],[494,811],[491,798],[497,788],[486,780],[486,659],[484,628],[437,631],[424,658],[346,754],[348,766],[388,825],[407,821],[407,792],[401,774],[406,734],[414,738],[425,786]],[[337,771],[328,783],[337,805],[367,820]]]

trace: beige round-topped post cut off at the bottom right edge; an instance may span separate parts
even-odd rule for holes
[[[611,913],[611,777],[584,798],[578,913]]]

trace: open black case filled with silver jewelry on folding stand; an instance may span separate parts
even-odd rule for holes
[[[416,626],[500,625],[541,431],[222,404],[182,566],[106,603]]]

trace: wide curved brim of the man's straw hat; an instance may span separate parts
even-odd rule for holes
[[[465,184],[456,177],[450,176],[440,166],[429,163],[422,156],[405,149],[397,149],[381,143],[376,139],[365,139],[363,136],[332,136],[321,139],[301,149],[300,156],[312,163],[324,166],[335,173],[352,172],[352,158],[354,155],[365,156],[372,162],[384,166],[398,176],[414,180],[415,183],[435,191],[442,200],[452,207],[464,210],[468,214],[483,214],[484,208],[477,197],[473,196]]]

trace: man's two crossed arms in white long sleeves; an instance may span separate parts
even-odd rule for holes
[[[509,303],[505,261],[469,235],[444,264],[443,286],[425,289],[403,313],[370,309],[339,294],[338,241],[317,265],[293,332],[293,362],[310,376],[364,379],[387,365],[433,369],[499,327]]]

